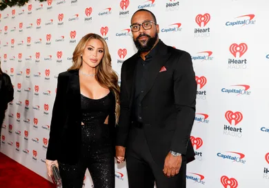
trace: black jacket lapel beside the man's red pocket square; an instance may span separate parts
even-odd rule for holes
[[[150,71],[148,75],[148,83],[146,90],[141,94],[141,98],[146,96],[148,92],[150,91],[152,85],[155,83],[155,80],[157,79],[157,76],[159,74],[159,71],[161,70],[161,67],[166,63],[168,58],[170,57],[170,53],[168,52],[168,46],[165,45],[162,41],[159,44],[158,52],[155,57],[152,59],[152,65],[150,65]]]

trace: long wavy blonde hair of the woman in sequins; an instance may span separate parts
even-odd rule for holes
[[[116,123],[119,121],[119,85],[118,85],[118,76],[111,66],[111,56],[108,50],[108,45],[106,41],[99,36],[98,34],[89,33],[82,37],[82,39],[77,44],[77,47],[73,52],[73,65],[68,69],[69,70],[79,70],[82,65],[81,54],[86,48],[86,45],[90,39],[98,39],[103,43],[104,53],[103,59],[96,67],[95,79],[99,82],[102,87],[112,89],[116,97],[116,108],[115,108],[115,117]]]

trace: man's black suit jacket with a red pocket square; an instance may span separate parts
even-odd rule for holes
[[[190,132],[195,119],[197,83],[188,52],[158,44],[152,59],[148,88],[144,90],[141,110],[145,134],[152,157],[161,165],[170,150],[193,160],[195,152],[190,143]],[[138,54],[124,61],[121,67],[121,114],[116,145],[127,146],[132,127],[135,67]],[[159,72],[161,67],[166,71]]]

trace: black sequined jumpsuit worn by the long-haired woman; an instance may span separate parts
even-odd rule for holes
[[[114,155],[110,129],[105,120],[112,107],[111,92],[100,99],[81,94],[81,155],[77,165],[59,162],[63,188],[81,188],[86,169],[90,171],[94,188],[114,188]]]

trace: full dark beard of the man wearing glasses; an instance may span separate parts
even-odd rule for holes
[[[141,36],[148,36],[148,41],[139,41],[139,37]],[[158,39],[158,32],[155,33],[154,37],[151,37],[150,35],[143,33],[143,34],[139,34],[139,36],[137,36],[137,39],[133,39],[135,46],[137,47],[137,50],[139,50],[139,52],[148,52],[150,51],[153,46],[155,45],[156,41]],[[143,43],[143,45],[141,45],[141,42]]]

